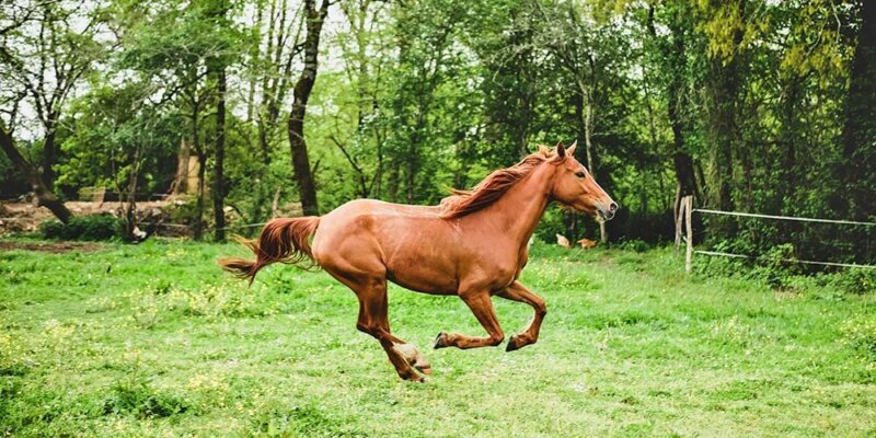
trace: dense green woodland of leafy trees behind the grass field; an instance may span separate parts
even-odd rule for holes
[[[876,4],[845,0],[15,0],[0,5],[0,194],[166,194],[226,210],[436,204],[538,143],[622,206],[611,241],[698,207],[876,220]],[[143,195],[147,194],[147,195]],[[277,198],[277,201],[275,201]],[[131,203],[132,205],[132,203]],[[876,262],[874,228],[702,218],[713,247]],[[599,237],[552,209],[539,233]]]

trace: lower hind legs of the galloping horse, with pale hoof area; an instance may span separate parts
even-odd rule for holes
[[[424,373],[431,373],[429,362],[424,358],[413,345],[395,337],[390,333],[390,322],[388,315],[387,283],[371,281],[367,288],[357,288],[356,296],[359,298],[359,319],[356,328],[368,333],[380,342],[380,346],[387,351],[390,362],[395,367],[395,371],[404,380],[415,380],[422,382],[424,379],[411,366]]]

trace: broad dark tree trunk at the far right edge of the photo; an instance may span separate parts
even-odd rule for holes
[[[839,197],[850,219],[868,220],[876,216],[876,2],[861,3],[861,31],[845,101]]]

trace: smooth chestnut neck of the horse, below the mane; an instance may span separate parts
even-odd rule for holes
[[[551,168],[542,164],[483,210],[515,244],[526,245],[550,201]]]

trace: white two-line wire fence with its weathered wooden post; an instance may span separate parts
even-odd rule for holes
[[[740,212],[740,211],[723,211],[723,210],[711,210],[705,208],[690,208],[692,199],[687,199],[687,207],[689,211],[699,211],[701,214],[707,215],[724,215],[724,216],[737,216],[737,217],[748,217],[748,218],[763,218],[763,219],[775,219],[775,220],[791,220],[791,221],[798,221],[798,222],[819,222],[819,223],[839,223],[839,224],[851,224],[851,226],[863,226],[863,227],[876,227],[876,222],[861,222],[854,220],[841,220],[841,219],[820,219],[820,218],[803,218],[803,217],[795,217],[795,216],[776,216],[776,215],[760,215],[760,214],[752,214],[752,212]],[[683,210],[683,207],[682,207]],[[679,222],[677,224],[677,233],[681,230],[681,221],[685,220],[682,215],[679,216]],[[702,254],[702,255],[710,255],[710,256],[719,256],[719,257],[730,257],[730,258],[746,258],[746,260],[771,260],[771,261],[779,261],[784,263],[800,263],[805,265],[818,265],[818,266],[835,266],[835,267],[851,267],[851,268],[861,268],[861,269],[876,269],[876,265],[860,265],[856,263],[839,263],[839,262],[821,262],[821,261],[807,261],[807,260],[796,260],[796,258],[775,258],[769,256],[757,256],[757,255],[746,255],[746,254],[734,254],[721,251],[703,251],[703,250],[693,250],[693,232],[691,230],[691,219],[690,215],[687,217],[688,222],[688,233],[684,237],[685,243],[688,245],[688,255],[685,261],[685,270],[691,270],[691,264],[693,254]],[[677,235],[676,242],[680,242],[680,235]],[[678,245],[678,243],[677,243]]]

